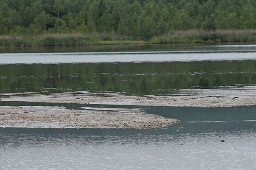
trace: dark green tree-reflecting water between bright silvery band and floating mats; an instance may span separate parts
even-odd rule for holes
[[[166,89],[256,84],[256,60],[0,65],[0,93],[114,91],[165,94]]]

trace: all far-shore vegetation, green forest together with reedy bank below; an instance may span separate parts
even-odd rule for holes
[[[248,41],[255,0],[0,0],[0,47]]]

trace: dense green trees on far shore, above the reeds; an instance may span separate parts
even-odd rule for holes
[[[0,34],[118,34],[255,29],[255,0],[0,0]]]

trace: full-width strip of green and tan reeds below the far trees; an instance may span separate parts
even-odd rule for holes
[[[118,45],[146,43],[256,42],[256,29],[174,31],[149,40],[133,40],[118,34],[41,34],[38,36],[0,36],[0,47]]]

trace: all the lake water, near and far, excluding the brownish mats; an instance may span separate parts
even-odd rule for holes
[[[113,91],[170,94],[172,89],[256,84],[256,45],[126,45],[1,49],[0,94]],[[253,170],[256,107],[144,108],[180,119],[134,129],[0,128],[0,170]],[[183,128],[180,128],[183,127]],[[225,140],[225,142],[221,142]]]

